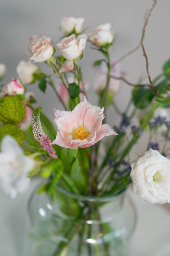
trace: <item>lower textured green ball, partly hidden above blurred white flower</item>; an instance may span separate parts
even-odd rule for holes
[[[13,124],[4,124],[0,126],[0,141],[6,134],[13,136],[20,145],[25,138],[25,133],[21,131],[18,126]]]

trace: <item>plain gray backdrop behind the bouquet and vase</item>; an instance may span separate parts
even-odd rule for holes
[[[25,52],[30,35],[36,34],[49,36],[52,38],[54,45],[60,42],[58,38],[62,36],[62,33],[58,30],[58,27],[64,16],[71,15],[75,17],[84,17],[84,27],[88,26],[87,32],[91,32],[94,27],[97,27],[102,23],[111,23],[115,33],[118,33],[113,56],[122,56],[138,44],[144,16],[151,5],[151,0],[0,0],[0,63],[4,63],[7,66],[4,81],[7,83],[11,78],[16,77],[16,66],[18,62],[20,60],[27,60]],[[146,39],[144,43],[149,58],[149,69],[152,78],[161,72],[162,64],[170,57],[169,11],[169,0],[158,1],[146,30]],[[85,80],[90,81],[88,95],[89,101],[92,104],[97,103],[97,97],[92,93],[92,63],[100,57],[100,54],[90,50],[90,44],[88,43],[85,48],[84,58],[80,62]],[[126,72],[125,77],[129,81],[136,82],[139,77],[142,76],[143,81],[148,81],[145,64],[145,58],[142,56],[142,50],[140,49],[123,61],[123,69]],[[50,73],[50,70],[45,64],[41,64],[41,67],[43,70]],[[57,86],[56,79],[55,84]],[[120,106],[120,109],[124,110],[125,103],[130,97],[131,88],[128,85],[123,84],[122,89],[123,90],[121,90],[116,97],[116,102]],[[44,112],[53,120],[53,107],[61,108],[61,105],[52,93],[52,90],[48,88],[47,94],[45,95],[37,89],[36,85],[28,85],[28,91],[34,91],[36,93],[39,105],[43,107]],[[111,110],[109,110],[109,112],[110,118],[108,123],[110,125],[113,123],[116,124],[118,121],[117,115]],[[12,204],[10,199],[3,196],[1,192],[0,196],[0,203],[3,208],[0,212],[0,240],[2,243],[0,252],[3,252],[2,256],[17,255],[15,253],[11,254],[11,252],[14,247],[17,247],[18,250],[20,242],[22,242],[21,230],[25,223],[24,216],[26,212],[25,202],[27,200],[27,195],[26,197],[19,197],[16,201],[12,201]],[[23,205],[24,211],[22,210]],[[150,207],[152,206],[148,206],[148,208],[146,206],[146,212],[150,211]],[[155,206],[155,208],[152,208],[153,212],[157,211],[157,221],[159,220],[159,217],[162,218],[163,216],[162,212],[160,212],[159,215],[159,207],[162,206]],[[14,208],[15,210],[13,210]],[[141,210],[142,208],[143,205],[141,206]],[[141,229],[137,233],[139,238],[145,233],[145,230],[142,229],[142,225],[143,223],[146,224],[146,222],[145,219],[142,219],[142,216],[143,215],[139,215],[139,223],[141,225]],[[149,230],[152,230],[155,223],[150,223],[151,227]],[[166,223],[164,223],[164,225],[165,226],[162,225],[162,227],[166,228]],[[155,227],[155,229],[153,228],[153,234],[156,232],[158,232],[158,230]],[[146,239],[149,239],[146,234],[145,236]],[[152,233],[150,233],[150,236],[152,236]],[[141,255],[151,255],[151,253],[146,253],[147,250],[144,252],[144,248],[147,245],[145,243],[143,245],[140,241],[136,240],[135,244],[138,246],[141,245],[140,250],[142,250],[143,247],[143,253],[141,251]],[[6,241],[8,241],[8,246],[5,244]],[[13,244],[11,250],[10,244]],[[133,255],[138,254],[138,248],[135,247],[135,244]],[[159,255],[164,256],[169,254]]]

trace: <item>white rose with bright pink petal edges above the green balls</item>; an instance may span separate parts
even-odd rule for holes
[[[3,87],[1,96],[23,94],[23,93],[24,93],[24,87],[20,84],[18,80],[14,79]]]

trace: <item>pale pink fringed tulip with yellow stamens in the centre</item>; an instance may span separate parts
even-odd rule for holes
[[[92,106],[84,97],[72,111],[54,109],[58,132],[52,144],[77,149],[94,145],[105,136],[117,135],[108,124],[102,124],[104,108]]]

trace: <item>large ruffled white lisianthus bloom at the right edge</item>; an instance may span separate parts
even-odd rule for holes
[[[152,204],[170,203],[170,160],[149,149],[131,164],[132,190]]]

